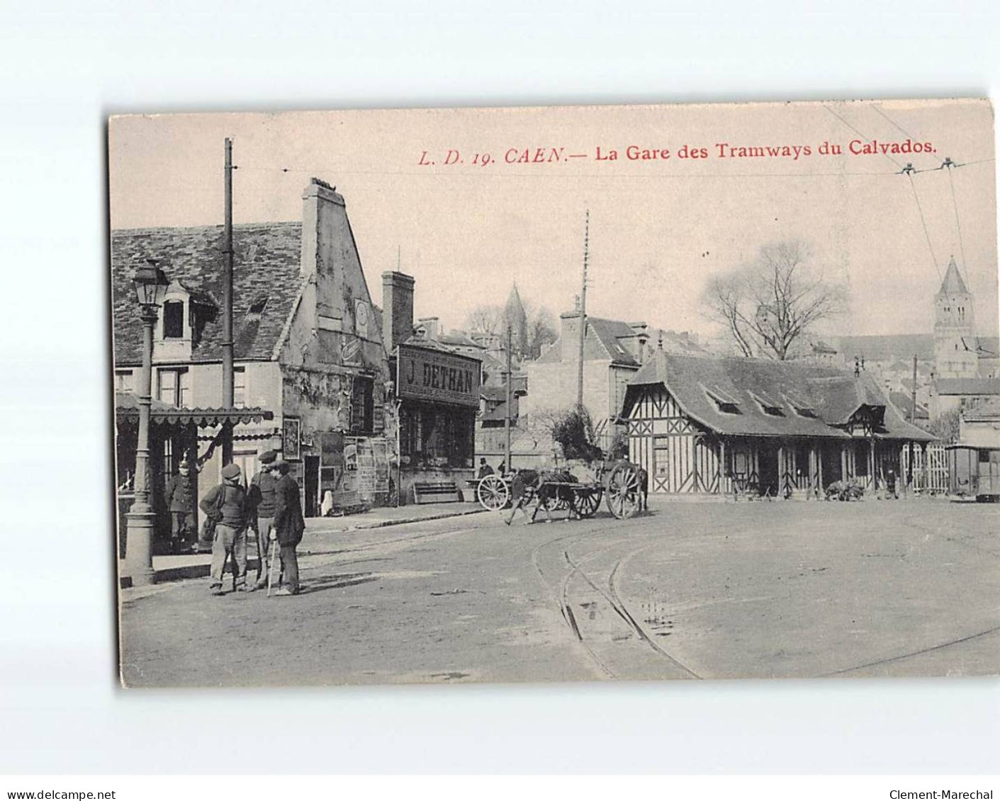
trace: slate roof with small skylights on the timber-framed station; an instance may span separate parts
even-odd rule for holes
[[[883,438],[934,438],[906,422],[870,376],[855,378],[832,367],[685,357],[658,350],[629,382],[624,413],[641,388],[655,385],[665,387],[688,416],[719,433],[845,438],[850,435],[833,426],[867,405],[876,412],[884,409],[884,428],[877,432]],[[733,403],[738,413],[722,411],[713,397]],[[781,414],[767,413],[763,405],[775,406]]]

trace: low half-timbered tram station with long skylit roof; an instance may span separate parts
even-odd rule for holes
[[[656,351],[629,381],[630,458],[668,493],[818,495],[900,475],[901,451],[934,437],[906,422],[864,371]]]

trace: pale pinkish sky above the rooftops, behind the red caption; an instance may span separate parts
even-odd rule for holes
[[[822,334],[931,331],[951,257],[978,333],[997,334],[986,101],[115,117],[112,228],[221,224],[227,136],[234,222],[301,220],[302,190],[321,178],[345,198],[375,303],[398,265],[417,280],[416,315],[449,328],[503,304],[512,282],[557,315],[572,309],[589,211],[595,316],[711,335],[706,280],[796,239],[849,291],[849,313]],[[890,152],[855,155],[852,141]],[[907,141],[922,152],[891,152]],[[733,150],[766,147],[779,150]],[[540,161],[519,163],[525,152]],[[962,166],[935,169],[945,158]],[[901,173],[907,163],[918,172]]]

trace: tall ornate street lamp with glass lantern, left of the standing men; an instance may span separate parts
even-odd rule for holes
[[[132,279],[142,319],[142,371],[139,373],[139,436],[135,449],[135,500],[125,514],[125,575],[132,579],[132,586],[152,584],[153,571],[153,522],[155,514],[149,502],[147,472],[149,469],[149,409],[152,405],[153,384],[153,326],[157,309],[170,282],[156,265],[149,261],[135,271]]]

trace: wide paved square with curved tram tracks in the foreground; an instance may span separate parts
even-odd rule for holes
[[[313,533],[306,591],[123,593],[132,686],[1000,672],[1000,506],[690,503]]]

